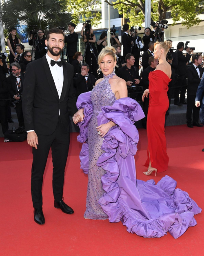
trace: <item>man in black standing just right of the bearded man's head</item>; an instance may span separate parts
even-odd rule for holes
[[[73,61],[74,54],[77,52],[78,34],[74,32],[75,27],[76,25],[74,23],[69,23],[68,30],[70,34],[65,36],[65,43],[67,43],[67,54],[70,64]]]

